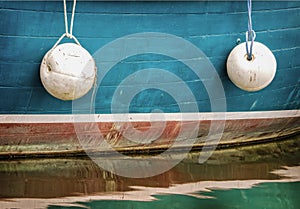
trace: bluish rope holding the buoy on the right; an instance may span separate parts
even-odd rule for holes
[[[251,19],[252,0],[247,0],[247,7],[248,7],[248,31],[246,32],[246,52],[247,52],[247,59],[252,60],[253,42],[256,37],[255,31],[252,29],[252,19]],[[251,42],[250,47],[248,42]]]

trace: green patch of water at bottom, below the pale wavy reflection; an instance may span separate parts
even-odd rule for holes
[[[300,182],[292,183],[263,183],[251,189],[212,190],[201,192],[200,195],[214,197],[212,199],[197,198],[187,195],[155,195],[157,200],[122,201],[103,200],[91,202],[78,202],[77,206],[49,206],[49,209],[67,208],[114,208],[114,209],[298,209]],[[80,207],[82,205],[82,207]]]

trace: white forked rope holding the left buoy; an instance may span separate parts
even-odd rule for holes
[[[71,23],[70,23],[70,32],[68,29],[68,14],[67,14],[67,2],[66,0],[63,0],[64,3],[64,21],[65,21],[65,30],[66,32],[64,34],[62,34],[62,36],[57,40],[57,42],[54,44],[54,46],[52,48],[55,48],[64,37],[73,39],[76,44],[78,44],[79,46],[80,43],[77,40],[77,38],[73,35],[73,25],[74,25],[74,17],[75,17],[75,9],[76,9],[76,0],[73,0],[73,8],[72,8],[72,16],[71,16]]]

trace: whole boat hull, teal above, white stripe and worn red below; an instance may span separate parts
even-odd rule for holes
[[[299,133],[300,2],[256,1],[252,9],[256,41],[277,70],[269,86],[247,92],[226,71],[245,41],[246,2],[80,1],[73,35],[95,59],[97,82],[62,101],[39,74],[65,32],[62,2],[0,2],[0,155],[187,151]]]

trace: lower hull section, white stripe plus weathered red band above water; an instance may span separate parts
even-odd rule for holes
[[[1,115],[0,156],[159,153],[206,146],[215,149],[300,133],[298,110],[173,113],[165,114],[163,121],[160,114],[152,118],[149,114],[94,116],[95,121],[79,121],[76,115]],[[212,131],[214,127],[217,131]],[[192,141],[191,136],[195,137]]]

